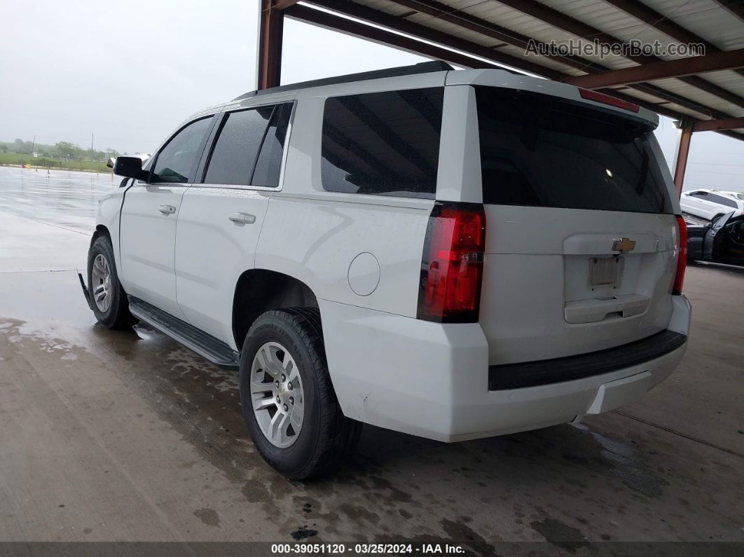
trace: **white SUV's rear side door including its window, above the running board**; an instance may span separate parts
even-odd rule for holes
[[[292,103],[225,112],[198,181],[183,196],[176,289],[186,321],[233,344],[232,304],[254,268],[269,196],[280,187]],[[203,176],[203,179],[202,179]]]

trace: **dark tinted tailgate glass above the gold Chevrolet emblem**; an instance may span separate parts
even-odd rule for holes
[[[529,91],[475,89],[484,203],[672,213],[648,123]]]

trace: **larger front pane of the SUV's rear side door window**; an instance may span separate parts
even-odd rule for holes
[[[251,181],[258,149],[274,107],[230,112],[209,158],[207,184],[247,186]]]

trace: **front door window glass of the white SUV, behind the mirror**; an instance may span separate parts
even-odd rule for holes
[[[193,179],[202,156],[212,117],[202,118],[181,129],[158,152],[150,183],[185,183]]]

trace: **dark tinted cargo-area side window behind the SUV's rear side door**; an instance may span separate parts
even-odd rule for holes
[[[444,88],[326,100],[325,190],[434,199]]]

